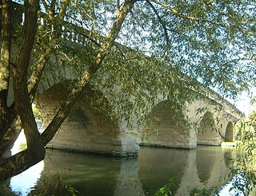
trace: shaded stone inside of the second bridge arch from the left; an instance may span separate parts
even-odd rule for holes
[[[162,147],[190,147],[190,135],[184,133],[182,124],[178,124],[178,121],[174,120],[174,112],[168,100],[157,104],[149,114],[150,123],[142,131],[141,144]]]

